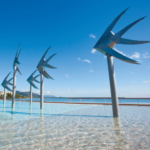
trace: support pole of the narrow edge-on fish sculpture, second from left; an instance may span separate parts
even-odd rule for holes
[[[15,95],[16,95],[16,75],[17,75],[17,67],[14,69],[14,79],[13,79],[13,95],[12,95],[12,108],[15,107]]]

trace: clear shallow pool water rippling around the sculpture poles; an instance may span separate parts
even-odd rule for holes
[[[0,101],[0,149],[150,149],[150,107]]]

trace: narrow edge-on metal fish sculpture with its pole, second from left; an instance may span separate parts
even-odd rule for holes
[[[21,49],[19,51],[19,46],[20,44],[18,45],[18,50],[17,50],[17,53],[16,53],[16,56],[15,56],[15,60],[14,60],[14,63],[13,63],[13,69],[14,69],[14,76],[13,76],[13,94],[12,94],[12,108],[15,107],[15,95],[16,95],[16,75],[17,75],[17,71],[21,74],[19,68],[18,68],[18,64],[20,64],[19,62],[19,55],[20,55],[20,52],[21,52]]]

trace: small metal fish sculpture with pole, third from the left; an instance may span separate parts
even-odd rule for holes
[[[33,86],[35,89],[38,89],[38,87],[37,87],[33,82],[35,81],[35,82],[37,82],[37,83],[40,83],[38,80],[36,80],[36,78],[37,78],[38,76],[40,76],[40,74],[37,75],[37,76],[35,76],[35,77],[33,76],[36,71],[37,71],[37,70],[35,70],[35,71],[30,75],[30,77],[27,79],[27,81],[28,81],[29,84],[30,84],[30,106],[32,105],[32,86]]]

